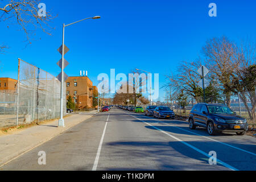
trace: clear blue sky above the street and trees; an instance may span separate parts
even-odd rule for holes
[[[10,46],[5,55],[0,54],[0,77],[17,77],[18,57],[57,76],[60,68],[56,62],[61,55],[62,23],[68,24],[100,15],[101,19],[85,20],[65,30],[65,45],[70,51],[65,55],[69,65],[68,76],[79,76],[87,70],[89,78],[97,85],[97,75],[129,73],[141,68],[159,73],[160,86],[165,75],[175,72],[182,60],[195,60],[201,47],[214,36],[228,36],[241,41],[256,38],[254,0],[122,0],[122,1],[42,1],[47,11],[57,18],[52,36],[38,30],[36,39],[26,47],[24,32],[15,24],[0,22],[0,44]],[[208,5],[217,5],[217,17],[209,17]],[[2,5],[2,4],[0,4]],[[40,38],[40,39],[39,39]],[[163,92],[160,93],[163,97]]]

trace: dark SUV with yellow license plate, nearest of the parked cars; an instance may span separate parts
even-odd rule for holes
[[[218,132],[244,135],[248,130],[246,119],[222,104],[196,104],[189,113],[188,121],[190,129],[205,127],[210,135]]]

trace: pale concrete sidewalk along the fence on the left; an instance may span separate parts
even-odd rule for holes
[[[92,117],[95,113],[97,112],[90,111],[87,114],[71,114],[71,116],[64,118],[65,127],[57,127],[59,119],[56,119],[47,124],[33,126],[16,131],[13,134],[2,135],[0,137],[0,167],[30,151],[32,148],[56,137],[63,133],[63,131],[85,121],[85,119]]]

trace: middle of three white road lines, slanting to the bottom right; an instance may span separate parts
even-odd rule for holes
[[[128,114],[128,115],[130,115],[130,114]],[[134,117],[133,115],[130,115],[130,116],[131,116],[131,117]],[[134,118],[139,119],[139,118],[137,118],[137,117],[134,117]],[[146,123],[147,125],[149,125],[149,126],[151,126],[151,127],[154,127],[154,129],[156,129],[156,130],[158,130],[158,131],[161,131],[162,133],[168,135],[169,137],[176,139],[177,141],[179,141],[179,142],[185,144],[186,146],[192,148],[193,150],[196,150],[196,151],[199,152],[200,154],[203,154],[203,155],[207,156],[207,158],[210,158],[210,157],[211,157],[211,156],[209,156],[207,153],[205,153],[204,151],[201,151],[199,148],[196,148],[196,147],[192,146],[191,144],[188,144],[187,142],[184,142],[183,140],[181,140],[181,139],[179,139],[179,138],[177,138],[177,137],[174,137],[174,135],[168,134],[168,133],[166,133],[165,131],[159,129],[158,127],[152,126],[152,125],[150,125],[149,123],[143,121],[142,119],[139,119],[139,120],[142,121],[142,122],[144,122],[144,123]],[[234,168],[234,167],[230,166],[229,164],[222,162],[222,161],[219,160],[219,159],[217,159],[217,162],[220,163],[220,164],[222,164],[222,166],[225,166],[225,167],[231,169],[232,171],[239,171],[237,168]]]

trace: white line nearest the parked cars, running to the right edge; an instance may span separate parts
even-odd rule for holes
[[[143,115],[143,117],[145,117],[145,116]],[[151,118],[148,118],[148,117],[145,117],[145,118],[151,119]],[[256,156],[256,154],[254,154],[253,152],[250,152],[250,151],[247,151],[247,150],[243,150],[242,148],[238,148],[238,147],[232,146],[232,145],[230,145],[230,144],[228,144],[228,143],[220,142],[220,141],[218,141],[218,140],[215,140],[215,139],[212,139],[212,138],[209,138],[209,137],[205,137],[205,136],[203,136],[203,135],[194,133],[194,132],[189,131],[189,130],[181,129],[180,127],[171,125],[170,123],[165,123],[165,122],[159,121],[159,120],[157,120],[157,119],[151,119],[151,120],[157,121],[157,122],[159,122],[159,123],[164,123],[165,125],[169,125],[169,126],[172,126],[172,127],[176,127],[177,129],[180,129],[180,130],[183,130],[183,131],[187,131],[188,133],[192,133],[192,134],[195,134],[195,135],[197,135],[197,136],[207,138],[207,139],[212,140],[212,141],[214,141],[214,142],[218,142],[218,143],[224,144],[224,145],[226,145],[226,146],[229,146],[229,147],[235,148],[235,149],[237,149],[237,150],[240,150],[240,151],[243,151],[243,152],[246,152],[246,153],[248,153],[248,154],[251,154],[251,155],[255,155],[255,156]],[[178,120],[175,120],[175,121],[178,121]],[[178,121],[178,122],[183,122],[183,121]],[[184,122],[184,123],[187,123],[187,122]]]

